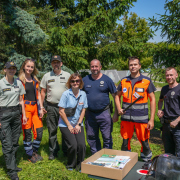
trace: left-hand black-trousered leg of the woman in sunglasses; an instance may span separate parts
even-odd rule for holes
[[[75,134],[72,134],[67,127],[60,127],[60,131],[67,146],[68,161],[66,168],[75,168],[77,155],[77,140]]]

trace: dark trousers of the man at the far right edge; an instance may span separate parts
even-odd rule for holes
[[[165,153],[171,153],[180,157],[180,124],[172,128],[169,123],[164,123],[162,127],[162,140]]]

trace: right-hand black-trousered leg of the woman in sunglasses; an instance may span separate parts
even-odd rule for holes
[[[84,136],[84,127],[81,127],[81,132],[75,134],[75,138],[77,141],[77,165],[76,170],[81,170],[81,162],[84,161],[85,154],[86,154],[86,143],[85,143],[85,136]]]

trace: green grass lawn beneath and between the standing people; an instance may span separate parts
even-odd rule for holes
[[[158,99],[159,99],[159,94],[160,94],[160,92],[155,93],[156,101],[158,101]],[[156,107],[156,109],[157,109],[157,107]],[[156,112],[156,114],[157,114],[157,112]],[[161,124],[156,115],[155,116],[155,128],[154,128],[155,130],[152,131],[153,132],[152,134],[154,134],[153,139],[152,140],[150,139],[150,146],[151,146],[151,150],[153,152],[153,157],[163,153],[162,141],[161,141],[159,135],[156,137],[156,133],[154,133],[154,132],[158,132],[157,134],[160,134],[159,133],[160,127],[161,127]],[[122,138],[120,135],[120,120],[118,122],[114,123],[112,136],[113,136],[113,149],[120,150],[121,145],[122,145]],[[101,138],[101,140],[102,140],[102,138]],[[59,144],[61,145],[61,133],[60,133],[59,129],[58,129],[58,141],[59,141]],[[91,179],[91,178],[88,178],[88,175],[76,172],[75,170],[67,171],[66,167],[65,167],[67,158],[63,157],[62,151],[59,152],[58,159],[55,159],[53,161],[48,160],[48,153],[49,153],[48,130],[46,127],[45,120],[44,120],[43,139],[41,142],[41,147],[39,149],[41,156],[44,158],[43,161],[37,162],[36,164],[32,164],[27,161],[27,157],[25,155],[24,148],[23,148],[22,134],[19,139],[19,145],[20,145],[20,147],[19,147],[18,154],[17,154],[17,164],[18,164],[18,167],[21,167],[23,169],[21,172],[18,173],[19,178],[21,180],[22,179],[27,179],[27,180],[47,180],[47,179],[56,179],[56,180],[58,180],[58,179],[86,180],[87,179],[88,180],[88,179]],[[131,140],[131,145],[132,145],[132,151],[138,152],[139,156],[140,156],[140,143],[137,140],[135,135]],[[87,148],[86,149],[86,158],[88,158],[91,155],[88,144],[87,144],[86,148]],[[5,167],[4,157],[2,154],[1,144],[0,144],[0,149],[1,149],[0,150],[0,180],[5,180],[5,179],[9,179],[9,178],[6,174],[6,167]],[[141,160],[140,157],[139,157],[139,160]]]

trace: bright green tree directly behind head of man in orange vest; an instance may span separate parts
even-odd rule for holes
[[[99,45],[99,59],[107,59],[109,64],[106,67],[118,70],[128,69],[127,58],[138,56],[142,61],[142,68],[147,68],[152,63],[152,57],[148,54],[147,41],[153,36],[153,32],[144,18],[135,13],[130,17],[124,16],[123,24],[119,24],[111,33],[109,43]],[[105,43],[104,43],[105,44]]]

